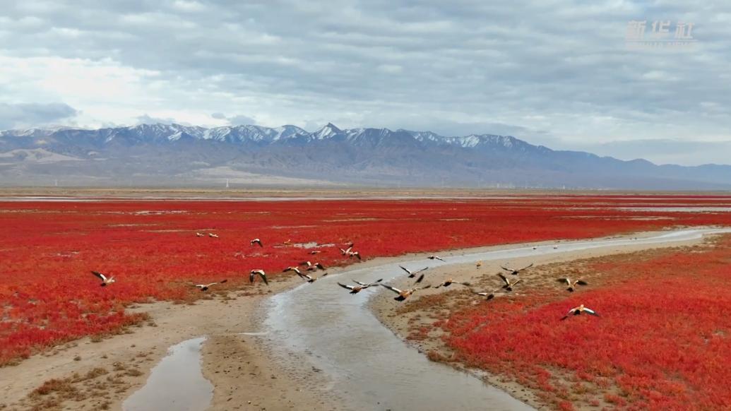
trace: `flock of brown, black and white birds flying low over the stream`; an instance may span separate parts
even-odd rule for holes
[[[195,233],[195,235],[197,237],[205,237],[206,234],[197,232],[197,233]],[[219,235],[217,235],[216,233],[208,233],[208,237],[219,238]],[[254,238],[249,243],[251,244],[251,246],[264,247],[264,244],[262,243],[260,238]],[[349,244],[347,244],[346,248],[340,249],[340,252],[342,255],[344,255],[348,258],[357,258],[358,260],[361,260],[360,252],[355,251],[353,249],[354,246],[355,246],[355,244],[349,243]],[[553,246],[554,249],[556,249],[557,247],[558,246]],[[536,247],[533,247],[533,249],[536,249]],[[313,250],[310,252],[310,254],[319,254],[320,252],[322,252],[322,250]],[[428,257],[428,259],[429,260],[439,260],[439,261],[444,262],[444,259],[442,257],[439,257],[438,255],[430,255]],[[482,262],[477,262],[477,268],[480,268],[481,266],[482,266]],[[300,267],[302,267],[302,269],[300,269]],[[352,282],[354,284],[342,284],[341,282],[338,282],[337,284],[340,287],[343,287],[344,289],[348,290],[350,294],[357,294],[357,293],[360,293],[360,291],[362,291],[362,290],[366,290],[366,288],[368,288],[368,287],[376,287],[378,285],[381,285],[382,287],[385,287],[387,290],[391,290],[391,291],[393,291],[393,293],[398,294],[394,298],[395,301],[404,301],[404,300],[406,300],[406,298],[409,298],[409,296],[413,295],[417,291],[426,290],[428,288],[431,288],[431,284],[425,284],[425,285],[421,284],[421,282],[423,282],[423,280],[425,278],[425,274],[426,274],[425,271],[427,271],[429,269],[429,267],[420,268],[418,270],[409,270],[409,268],[406,268],[403,265],[399,265],[399,267],[402,270],[404,270],[406,272],[406,274],[408,274],[408,278],[416,277],[416,280],[414,281],[414,284],[412,285],[412,287],[401,290],[400,288],[393,287],[389,284],[383,284],[382,283],[383,279],[378,279],[377,281],[370,282],[370,283],[352,280]],[[485,297],[487,300],[491,300],[491,299],[495,298],[496,293],[499,293],[501,291],[504,293],[510,293],[516,285],[518,285],[518,284],[520,284],[520,282],[522,282],[522,278],[520,278],[520,273],[523,271],[526,271],[527,269],[529,269],[531,267],[533,267],[532,263],[530,265],[526,265],[523,268],[508,268],[508,267],[505,267],[504,265],[501,265],[500,268],[502,268],[504,271],[506,271],[507,275],[503,274],[503,273],[497,274],[500,277],[501,282],[502,282],[500,287],[496,288],[495,290],[491,290],[491,291],[471,290],[471,292],[476,295]],[[314,271],[318,271],[318,270],[325,271],[325,266],[322,265],[321,263],[317,263],[317,262],[311,263],[310,261],[303,261],[297,266],[289,266],[287,268],[284,268],[284,271],[282,271],[282,272],[285,272],[285,273],[293,272],[293,273],[297,274],[298,276],[300,276],[300,278],[303,279],[304,281],[306,281],[308,283],[312,283],[312,282],[317,281],[317,279],[319,279],[319,278],[327,276],[327,272],[325,272],[324,274],[322,274],[320,276],[314,276]],[[303,272],[303,271],[305,271],[305,272]],[[307,273],[312,273],[312,274],[307,274]],[[94,276],[96,276],[97,278],[99,278],[101,280],[100,285],[102,287],[106,287],[107,285],[113,284],[115,282],[114,276],[107,276],[106,274],[102,274],[99,271],[91,271],[91,274],[94,274]],[[418,277],[417,277],[417,274],[419,275]],[[251,270],[251,272],[249,273],[249,282],[254,283],[254,280],[256,279],[257,276],[260,277],[261,281],[264,282],[264,284],[269,285],[269,280],[267,279],[267,274],[262,269]],[[205,292],[205,291],[208,291],[208,289],[210,287],[213,287],[216,284],[224,284],[227,281],[228,281],[227,279],[223,279],[219,282],[211,282],[208,284],[192,284],[192,285],[194,287],[197,287],[201,291]],[[561,284],[565,284],[567,286],[567,291],[572,292],[572,293],[574,292],[574,290],[576,289],[577,286],[588,285],[587,282],[585,282],[581,279],[572,280],[569,278],[561,278],[561,279],[557,279],[557,281],[560,282]],[[450,278],[450,279],[444,280],[442,283],[436,285],[436,287],[434,287],[434,288],[450,287],[452,284],[458,284],[458,285],[463,285],[466,287],[471,287],[471,284],[469,282],[459,282],[459,281],[455,281],[455,279]],[[585,314],[585,313],[590,314],[590,315],[595,315],[597,317],[599,316],[599,314],[596,314],[596,312],[593,309],[590,309],[590,308],[584,306],[583,304],[581,304],[580,306],[576,306],[576,307],[570,309],[569,312],[567,312],[567,314],[561,318],[561,320],[566,320],[569,316],[572,316],[572,315],[579,315],[579,314]]]

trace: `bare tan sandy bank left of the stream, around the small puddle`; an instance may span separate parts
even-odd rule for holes
[[[80,339],[0,369],[0,409],[121,410],[124,399],[145,384],[168,347],[206,335],[202,372],[215,387],[212,409],[314,410],[322,399],[311,398],[298,388],[297,380],[278,369],[256,344],[258,337],[238,334],[260,331],[262,301],[300,282],[275,279],[270,287],[257,285],[261,294],[216,295],[192,305],[140,304],[129,311],[147,312],[147,325],[101,342]],[[52,379],[73,380],[72,388],[60,395],[31,394]]]

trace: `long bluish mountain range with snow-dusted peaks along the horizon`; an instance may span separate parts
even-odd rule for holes
[[[731,189],[731,166],[655,165],[512,136],[291,125],[0,132],[3,186],[461,186]]]

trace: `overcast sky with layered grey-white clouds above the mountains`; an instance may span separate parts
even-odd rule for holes
[[[730,50],[726,0],[4,0],[0,129],[332,122],[731,163]]]

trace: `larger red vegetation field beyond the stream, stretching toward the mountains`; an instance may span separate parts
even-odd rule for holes
[[[302,260],[352,263],[337,250],[348,241],[367,258],[674,225],[731,225],[729,213],[623,208],[678,203],[731,206],[731,198],[0,202],[0,365],[135,323],[139,317],[124,313],[130,303],[199,298],[189,282],[227,278],[227,287],[251,287],[253,268],[276,276]],[[197,231],[220,238],[199,238]],[[263,248],[249,245],[255,237]],[[311,256],[298,246],[311,242],[330,245]],[[99,287],[91,270],[118,282]]]

